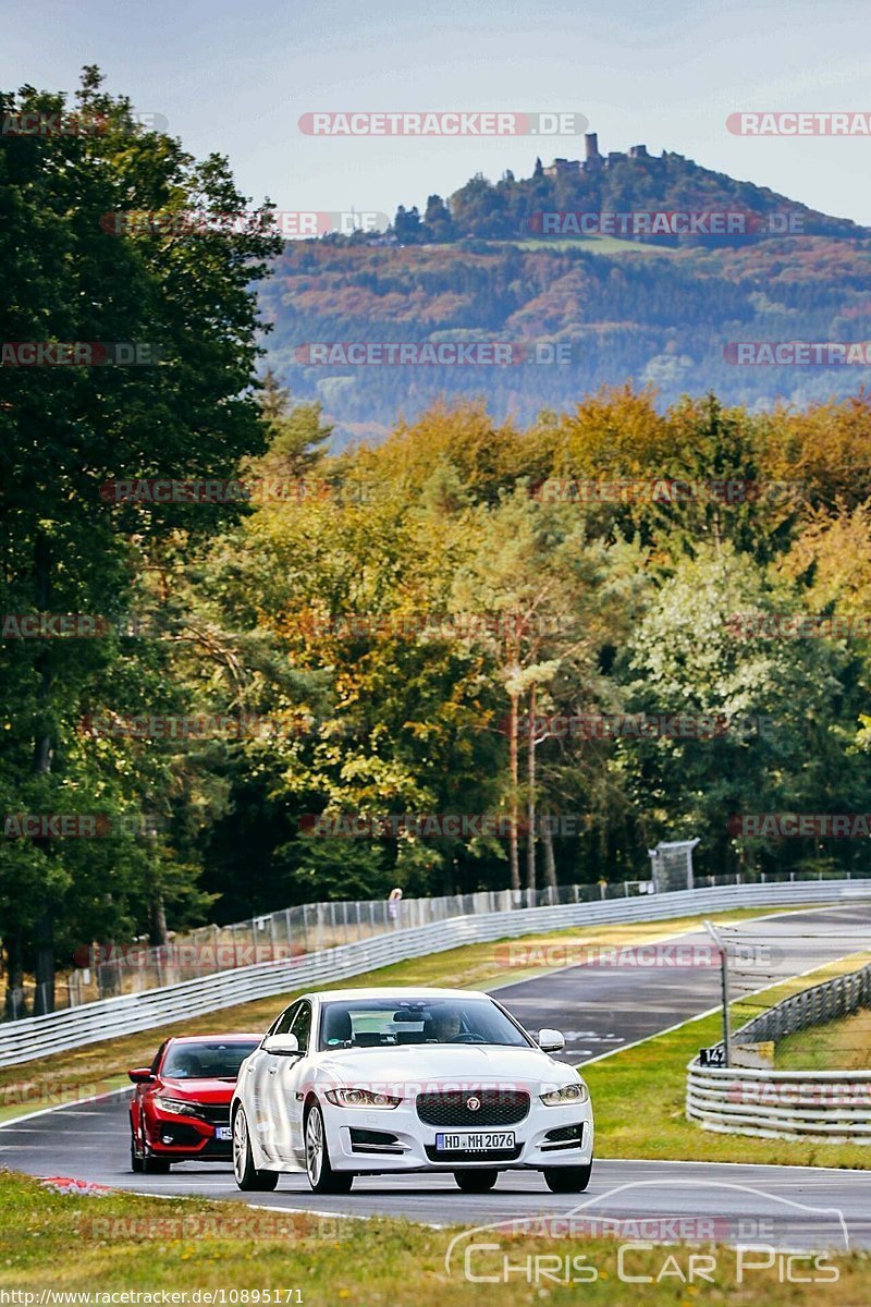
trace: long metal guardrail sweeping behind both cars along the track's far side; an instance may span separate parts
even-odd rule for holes
[[[678,890],[644,898],[605,899],[598,903],[515,908],[453,918],[407,931],[392,931],[356,944],[324,949],[302,958],[239,967],[185,980],[163,989],[123,995],[82,1008],[0,1026],[0,1067],[33,1061],[82,1044],[153,1030],[174,1021],[217,1012],[252,999],[300,992],[332,980],[345,980],[461,944],[486,942],[558,931],[571,925],[610,921],[659,921],[688,914],[729,911],[738,907],[787,907],[871,898],[871,881],[811,881],[780,885],[735,885]]]

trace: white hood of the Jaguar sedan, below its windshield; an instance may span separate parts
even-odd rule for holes
[[[321,1055],[320,1072],[337,1085],[417,1086],[419,1091],[568,1085],[577,1072],[538,1048],[501,1044],[400,1044]],[[406,1089],[406,1093],[409,1091]],[[405,1094],[402,1097],[406,1097]]]

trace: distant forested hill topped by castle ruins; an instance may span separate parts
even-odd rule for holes
[[[868,380],[863,366],[742,366],[727,349],[871,339],[866,229],[678,154],[588,165],[473,178],[447,205],[431,196],[423,216],[401,208],[387,235],[287,244],[261,290],[270,366],[295,396],[324,403],[338,443],[387,431],[440,395],[483,396],[495,417],[525,422],[603,383],[652,384],[662,404],[713,389],[759,410]],[[657,216],[662,226],[675,213],[743,214],[743,230],[656,234]],[[567,233],[594,226],[590,214],[606,227],[642,214],[654,230],[628,231],[624,218],[623,235]],[[411,362],[308,348],[336,342],[443,348]],[[444,349],[471,342],[512,348],[501,361]]]

